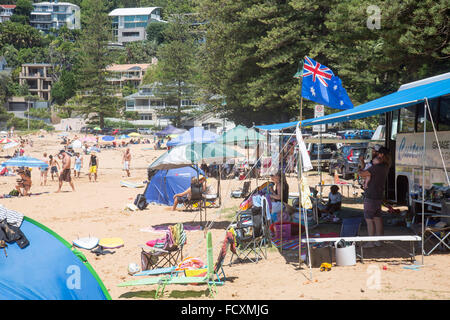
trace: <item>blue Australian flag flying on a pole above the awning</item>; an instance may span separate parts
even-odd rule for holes
[[[330,108],[351,109],[353,103],[339,77],[330,68],[305,57],[303,64],[302,97]]]

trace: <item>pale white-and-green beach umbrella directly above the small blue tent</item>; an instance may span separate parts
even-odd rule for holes
[[[150,165],[150,169],[169,170],[200,162],[221,164],[230,158],[244,157],[236,150],[218,143],[193,143],[167,151]]]

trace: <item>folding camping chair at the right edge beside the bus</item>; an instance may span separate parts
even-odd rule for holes
[[[431,240],[438,240],[437,244],[428,252],[426,252],[426,250],[424,249],[424,254],[427,256],[437,248],[440,248],[440,250],[444,250],[446,247],[450,250],[450,203],[442,200],[441,204],[442,209],[440,213],[432,215],[427,219],[426,225],[428,225],[428,221],[430,218],[439,218],[440,220],[440,222],[438,222],[434,226],[427,226],[425,229],[425,235],[428,234],[428,237],[425,239],[424,243],[430,242]]]

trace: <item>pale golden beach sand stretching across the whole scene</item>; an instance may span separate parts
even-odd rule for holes
[[[72,135],[73,136],[73,135]],[[42,159],[43,152],[56,154],[61,149],[57,134],[44,138],[33,136],[34,146],[25,147],[25,154]],[[162,233],[141,231],[148,227],[183,222],[198,225],[198,212],[170,211],[169,207],[149,205],[146,210],[131,212],[124,210],[133,203],[143,188],[126,188],[120,186],[121,180],[142,182],[147,179],[148,165],[164,151],[145,150],[153,147],[148,144],[131,145],[131,177],[125,177],[122,170],[122,152],[124,149],[103,150],[98,154],[100,161],[98,182],[89,182],[88,156],[84,157],[84,166],[80,178],[73,178],[75,192],[68,183],[64,183],[62,192],[56,194],[57,179],[49,181],[47,186],[40,186],[39,170],[33,169],[32,193],[42,193],[23,198],[1,199],[0,203],[9,209],[17,210],[24,215],[48,226],[67,241],[78,237],[95,236],[120,237],[125,246],[115,249],[114,254],[96,256],[82,250],[94,267],[113,299],[153,299],[157,286],[117,287],[123,281],[133,280],[128,275],[128,264],[140,265],[141,245],[148,240],[162,236]],[[2,151],[0,155],[11,155]],[[73,165],[73,163],[72,163]],[[17,177],[0,177],[0,194],[9,193],[15,185]],[[324,174],[325,183],[333,179]],[[215,186],[214,179],[208,180]],[[317,174],[309,177],[311,183],[318,181]],[[261,183],[261,180],[259,181]],[[295,177],[288,179],[290,191],[298,190]],[[236,212],[240,199],[230,198],[230,192],[242,186],[242,181],[222,181],[223,206],[220,209],[208,209],[209,221],[214,221],[211,231],[213,235],[214,259],[216,259],[225,229],[229,225],[233,213]],[[255,180],[252,188],[256,186]],[[347,195],[347,190],[341,190]],[[327,191],[328,192],[328,191]],[[352,200],[345,206],[362,208],[361,202]],[[194,221],[194,222],[193,222]],[[321,226],[322,227],[322,226]],[[319,227],[319,228],[321,228]],[[339,232],[339,225],[328,228]],[[319,229],[313,230],[317,232]],[[328,230],[329,231],[329,230]],[[405,227],[386,228],[387,234],[407,233]],[[361,234],[367,234],[365,228]],[[32,241],[32,239],[30,239]],[[184,256],[198,257],[206,260],[206,241],[203,231],[188,231]],[[408,246],[406,246],[408,248]],[[418,247],[419,248],[419,247]],[[42,248],[45,254],[45,248]],[[416,253],[420,249],[416,250]],[[298,251],[287,251],[276,248],[268,249],[267,259],[255,263],[235,263],[228,265],[231,253],[225,258],[224,271],[227,276],[225,285],[218,287],[216,299],[449,299],[450,298],[450,255],[439,253],[426,256],[424,266],[419,270],[407,270],[410,265],[402,251],[384,245],[381,248],[365,249],[364,263],[355,266],[332,267],[329,272],[310,270],[304,265],[298,268]],[[388,257],[388,258],[383,258]],[[416,256],[420,263],[422,256]],[[383,267],[386,267],[384,270]],[[168,286],[163,299],[207,299],[205,286]]]

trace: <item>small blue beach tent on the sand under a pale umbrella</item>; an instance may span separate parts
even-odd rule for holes
[[[197,173],[198,170],[198,173]],[[145,198],[149,203],[173,205],[173,196],[191,186],[191,179],[204,172],[197,167],[158,170],[148,183]]]

